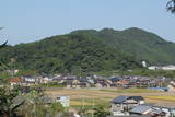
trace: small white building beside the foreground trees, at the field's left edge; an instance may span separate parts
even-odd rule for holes
[[[57,96],[56,102],[61,103],[63,107],[70,106],[70,97],[69,96]]]

